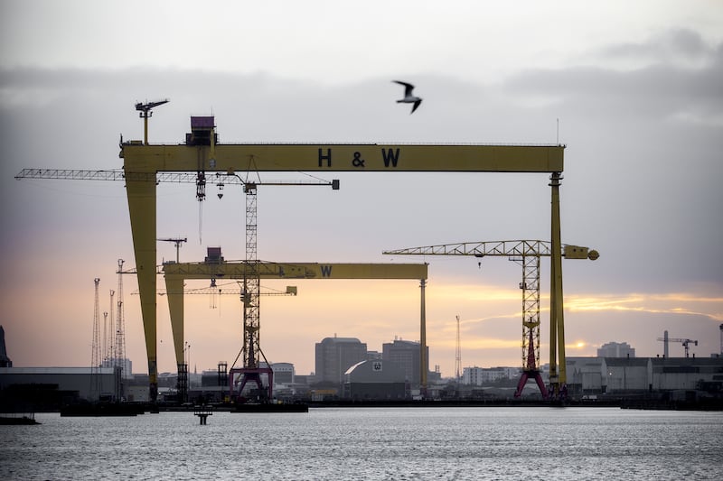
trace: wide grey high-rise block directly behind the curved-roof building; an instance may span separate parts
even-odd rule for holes
[[[343,375],[352,365],[367,360],[367,345],[357,338],[324,338],[316,343],[317,383],[343,383]]]

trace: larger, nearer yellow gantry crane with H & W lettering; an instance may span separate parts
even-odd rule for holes
[[[164,103],[164,101],[161,101]],[[565,146],[560,144],[387,144],[387,143],[218,143],[213,117],[192,117],[185,143],[150,144],[147,118],[161,103],[136,105],[144,118],[144,141],[121,139],[123,170],[23,170],[17,179],[125,180],[133,236],[138,290],[146,337],[150,399],[157,395],[155,264],[156,186],[195,172],[197,198],[205,197],[207,172],[545,172],[551,188],[551,324],[563,328],[559,227],[559,187]],[[253,167],[251,167],[253,166]],[[178,181],[178,180],[176,180]],[[227,182],[234,182],[233,176]],[[220,182],[222,183],[222,182]],[[238,179],[236,183],[246,185]],[[255,274],[251,273],[251,277]],[[253,282],[253,281],[252,281]],[[422,291],[424,292],[424,291]],[[424,312],[422,313],[424,315]],[[422,341],[424,341],[424,337]],[[553,344],[556,342],[553,339]],[[550,363],[553,384],[564,383]]]

